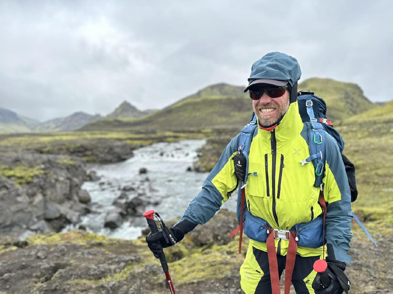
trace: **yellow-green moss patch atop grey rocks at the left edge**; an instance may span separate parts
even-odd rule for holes
[[[0,165],[0,175],[11,178],[17,185],[31,183],[34,176],[46,174],[41,166],[29,167],[28,165]]]

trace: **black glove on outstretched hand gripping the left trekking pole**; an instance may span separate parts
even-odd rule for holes
[[[162,253],[162,249],[175,245],[178,241],[184,238],[184,232],[177,228],[171,227],[169,229],[158,230],[152,234],[151,232],[146,237],[147,246],[151,252],[153,252],[156,258],[160,258],[160,254]]]

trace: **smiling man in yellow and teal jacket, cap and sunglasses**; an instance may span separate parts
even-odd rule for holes
[[[307,129],[304,129],[297,102],[300,76],[300,67],[295,58],[272,52],[253,64],[249,85],[245,89],[245,92],[250,91],[259,127],[248,154],[250,176],[244,187],[247,206],[244,232],[250,238],[250,243],[240,273],[241,287],[247,294],[272,293],[274,271],[278,268],[278,275],[281,276],[286,267],[288,248],[292,246],[289,245],[288,236],[296,233],[296,241],[302,236],[301,229],[293,231],[295,225],[304,224],[306,231],[307,227],[316,224],[323,239],[323,205],[319,201],[321,191],[320,187],[314,187],[316,172],[312,164],[303,166],[299,163],[310,156]],[[239,153],[239,135],[228,144],[206,179],[202,191],[191,201],[184,216],[170,229],[176,241],[182,240],[184,234],[196,225],[212,218],[236,189],[238,179],[233,157]],[[325,249],[329,264],[343,270],[345,263],[351,262],[347,255],[352,238],[351,196],[340,151],[327,133],[325,149],[322,186],[323,199],[328,203],[324,228]],[[274,234],[271,234],[273,231]],[[266,236],[274,241],[270,243],[273,244],[273,250],[275,247],[273,255],[276,261],[270,264],[272,250],[268,253],[269,241],[266,241]],[[318,236],[313,235],[309,239],[314,238],[318,239]],[[156,254],[162,247],[173,245],[165,242],[162,232],[150,234],[146,240]],[[315,240],[306,242],[307,246],[300,246],[300,241],[296,244],[292,274],[296,292],[314,293],[315,289],[320,294],[342,293],[337,275],[329,269],[329,287],[321,287],[321,275],[313,270],[313,264],[324,256],[323,247],[322,243],[317,248],[313,247],[312,241]],[[273,291],[276,290],[277,286]]]

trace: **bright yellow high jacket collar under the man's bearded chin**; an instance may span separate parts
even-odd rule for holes
[[[274,128],[275,138],[277,143],[288,142],[299,136],[301,130],[303,129],[303,122],[299,114],[298,102],[290,103],[289,109],[284,115],[281,122]],[[258,135],[263,138],[263,140],[270,140],[272,131],[267,131],[258,127]]]

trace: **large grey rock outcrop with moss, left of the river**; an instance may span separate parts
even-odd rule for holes
[[[0,232],[58,232],[89,209],[85,163],[68,156],[0,155]],[[6,176],[6,177],[5,177]]]

